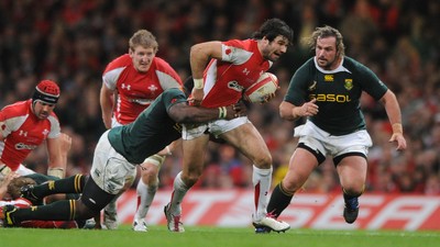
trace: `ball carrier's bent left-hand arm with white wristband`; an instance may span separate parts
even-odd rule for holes
[[[221,59],[221,42],[205,42],[191,46],[189,63],[194,78],[193,103],[199,105],[204,99],[204,70],[211,58]]]

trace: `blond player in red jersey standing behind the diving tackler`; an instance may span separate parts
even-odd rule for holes
[[[162,58],[156,57],[158,44],[155,36],[140,30],[129,42],[129,54],[112,60],[102,75],[100,104],[107,128],[133,122],[165,89],[180,88],[182,79]],[[170,154],[169,147],[164,154]],[[158,170],[164,155],[145,159],[138,183],[138,206],[133,229],[146,232],[145,216],[158,187]],[[133,181],[136,173],[129,180]],[[127,184],[128,187],[131,186]],[[117,228],[116,200],[105,209],[105,226]]]

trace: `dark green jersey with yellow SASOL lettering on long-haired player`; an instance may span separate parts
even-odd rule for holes
[[[309,120],[331,135],[345,135],[365,130],[365,119],[361,111],[362,91],[380,100],[387,87],[366,66],[350,57],[334,70],[323,70],[307,60],[292,77],[285,101],[297,106],[317,99],[317,115]]]

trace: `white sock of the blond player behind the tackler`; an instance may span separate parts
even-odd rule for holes
[[[134,214],[135,220],[145,218],[153,202],[154,195],[156,194],[157,187],[158,182],[156,182],[154,186],[146,186],[142,179],[139,180],[136,187],[138,209],[136,213]]]

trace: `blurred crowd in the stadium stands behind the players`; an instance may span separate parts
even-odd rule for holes
[[[105,127],[99,106],[107,63],[128,52],[139,29],[153,32],[157,56],[185,79],[189,47],[209,40],[246,38],[267,18],[295,31],[295,44],[272,71],[282,90],[265,105],[252,105],[250,119],[274,158],[274,183],[284,175],[296,145],[295,124],[282,121],[278,105],[295,70],[312,54],[301,38],[329,24],[344,36],[346,55],[372,68],[398,97],[408,149],[396,153],[387,141],[384,109],[363,98],[375,146],[369,159],[367,192],[440,195],[440,2],[437,0],[3,0],[0,1],[0,108],[28,99],[35,83],[50,78],[62,87],[55,112],[73,136],[67,176],[87,173]],[[298,124],[298,123],[296,123]],[[162,190],[180,169],[180,154],[167,158]],[[37,149],[26,165],[44,172]],[[251,164],[227,145],[210,145],[206,171],[196,188],[248,189]],[[330,160],[304,188],[309,193],[340,193]]]

